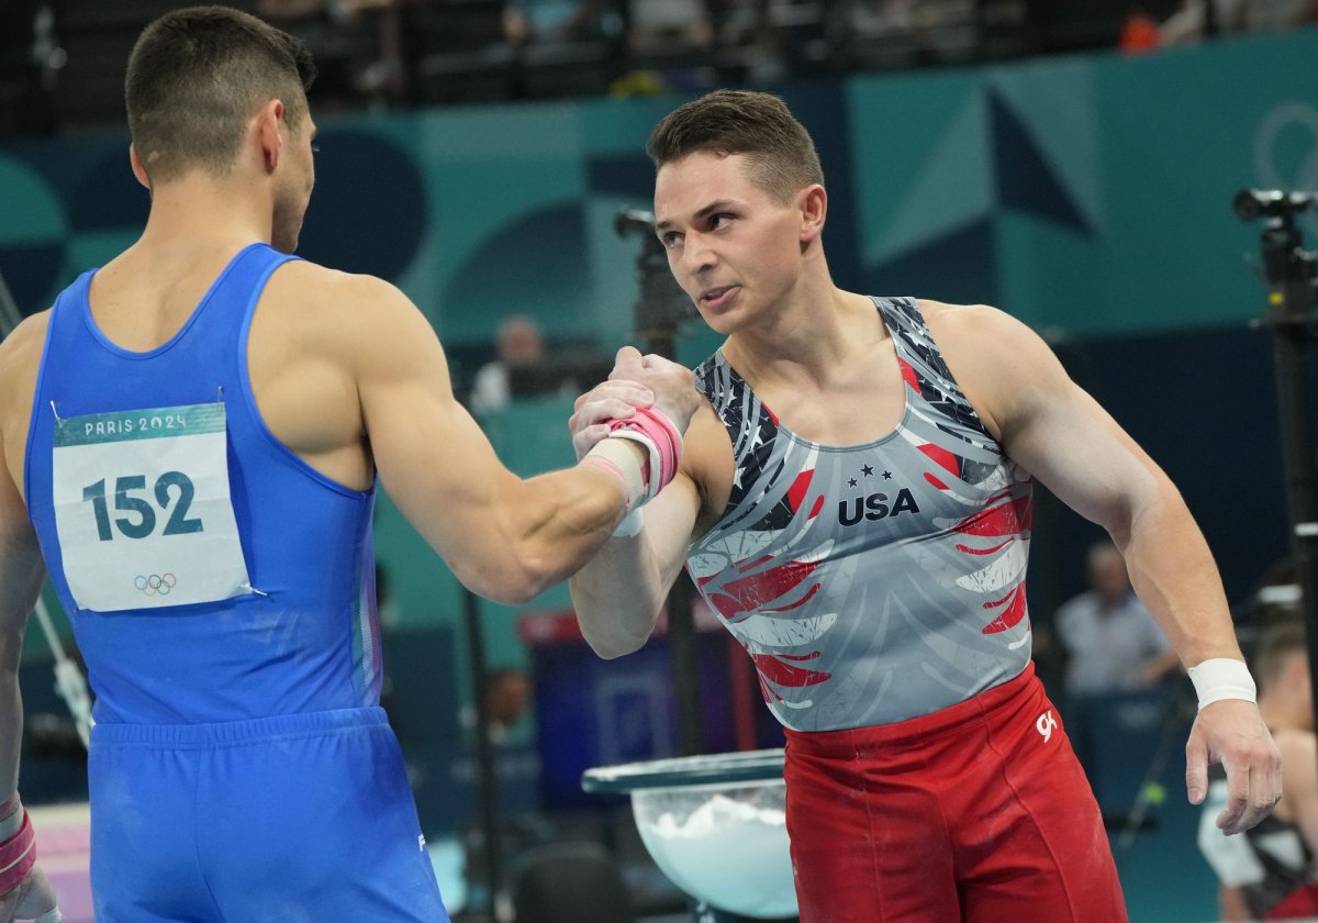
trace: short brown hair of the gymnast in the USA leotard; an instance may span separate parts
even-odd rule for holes
[[[779,202],[824,182],[809,132],[767,92],[714,90],[664,116],[646,142],[655,169],[697,152],[745,154],[755,185]]]

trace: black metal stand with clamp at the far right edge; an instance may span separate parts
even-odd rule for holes
[[[1255,326],[1272,330],[1281,460],[1290,513],[1290,549],[1300,579],[1309,671],[1318,688],[1318,456],[1313,439],[1309,351],[1315,338],[1318,256],[1304,249],[1298,218],[1318,210],[1318,193],[1240,190],[1242,222],[1264,222],[1263,277],[1268,310]]]

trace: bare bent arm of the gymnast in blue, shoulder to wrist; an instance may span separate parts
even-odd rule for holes
[[[581,467],[513,475],[455,400],[428,322],[391,286],[370,287],[369,330],[344,360],[385,491],[482,596],[521,603],[563,580],[609,538],[621,487]]]

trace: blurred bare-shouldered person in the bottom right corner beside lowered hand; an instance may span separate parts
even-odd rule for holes
[[[1222,919],[1300,919],[1318,914],[1318,744],[1304,624],[1273,625],[1252,658],[1259,711],[1281,750],[1286,781],[1272,816],[1239,836],[1226,836],[1217,816],[1227,781],[1210,767],[1199,815],[1199,849],[1220,883]]]

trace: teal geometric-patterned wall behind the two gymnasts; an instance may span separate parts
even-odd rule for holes
[[[784,95],[825,161],[840,285],[998,303],[1058,340],[1243,327],[1263,311],[1259,228],[1231,195],[1318,187],[1318,30]],[[513,313],[612,351],[633,339],[639,248],[613,220],[650,207],[643,144],[683,99],[326,115],[302,253],[395,282],[460,374]],[[24,310],[130,243],[146,207],[123,132],[0,145],[0,272]],[[717,344],[692,323],[679,357]],[[492,435],[543,471],[569,460],[565,415]],[[387,500],[377,531],[403,624],[457,622],[460,588]],[[490,610],[492,659],[518,659],[515,613]]]

